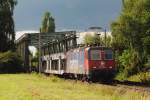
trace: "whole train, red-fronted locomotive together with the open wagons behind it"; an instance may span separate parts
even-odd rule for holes
[[[86,80],[111,80],[116,66],[113,50],[102,46],[78,47],[67,52],[43,54],[43,73]]]

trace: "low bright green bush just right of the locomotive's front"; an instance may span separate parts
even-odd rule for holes
[[[138,73],[141,66],[139,54],[134,50],[124,50],[119,56],[119,72],[123,73],[124,77]]]

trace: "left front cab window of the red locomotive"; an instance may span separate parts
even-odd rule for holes
[[[91,60],[101,60],[100,50],[91,50],[90,59]]]

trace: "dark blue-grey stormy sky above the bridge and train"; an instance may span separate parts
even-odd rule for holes
[[[16,31],[38,31],[44,12],[55,18],[56,30],[110,29],[119,16],[122,0],[18,0],[14,10]]]

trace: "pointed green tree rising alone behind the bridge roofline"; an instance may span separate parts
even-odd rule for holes
[[[55,32],[55,20],[50,12],[45,12],[42,20],[41,32]]]

